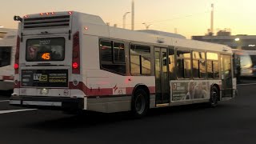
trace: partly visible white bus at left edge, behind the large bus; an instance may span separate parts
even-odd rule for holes
[[[17,30],[0,28],[0,90],[14,89]]]

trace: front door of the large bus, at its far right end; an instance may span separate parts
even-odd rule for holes
[[[222,69],[222,98],[232,98],[233,80],[232,80],[232,63],[231,56],[221,54]]]

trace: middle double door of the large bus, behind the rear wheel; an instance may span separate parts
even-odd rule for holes
[[[154,48],[156,104],[169,104],[168,54],[166,48]]]

